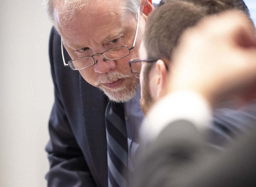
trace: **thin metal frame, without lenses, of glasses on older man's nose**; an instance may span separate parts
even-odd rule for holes
[[[135,42],[136,42],[136,39],[137,39],[138,28],[139,28],[139,19],[140,19],[140,7],[138,7],[138,19],[137,19],[136,33],[135,33],[135,38],[134,38],[132,47],[129,48],[128,46],[120,46],[120,47],[115,47],[115,48],[112,48],[112,49],[108,49],[108,50],[106,50],[106,51],[110,51],[110,50],[113,50],[113,49],[116,49],[116,48],[121,48],[121,47],[127,47],[127,48],[129,49],[129,54],[127,54],[126,56],[130,55],[130,54],[131,54],[130,50],[134,48]],[[96,53],[96,54],[94,54],[94,55],[92,55],[92,56],[80,57],[80,58],[77,58],[77,59],[70,60],[70,61],[68,61],[68,63],[66,63],[65,57],[64,57],[64,52],[63,52],[64,50],[63,50],[62,38],[60,39],[60,42],[61,42],[61,54],[62,54],[62,60],[63,60],[64,66],[69,66],[69,67],[70,67],[70,65],[68,64],[69,62],[72,62],[72,61],[74,61],[74,60],[78,60],[78,59],[81,59],[81,58],[84,58],[84,57],[92,57],[92,58],[93,58],[94,56],[99,56],[99,55],[101,55],[101,54],[104,56],[103,53],[106,52],[106,51],[104,51],[104,52],[102,52],[102,53]],[[124,56],[124,57],[126,57],[126,56]],[[120,58],[124,58],[124,57],[120,57]],[[103,60],[104,60],[104,61],[107,61],[107,60],[116,60],[116,59],[120,59],[120,58],[108,59],[108,58],[106,58],[106,57],[104,56]],[[93,58],[93,61],[94,61],[94,62],[93,62],[92,65],[90,65],[90,66],[88,66],[88,67],[85,67],[85,68],[89,68],[89,67],[93,66],[94,64],[96,64],[96,63],[98,62],[98,60],[96,60],[96,63],[95,63],[95,59],[94,59],[94,58]],[[70,67],[70,68],[71,68],[71,67]],[[80,68],[80,69],[85,69],[85,68]],[[71,68],[71,69],[72,69],[72,68]],[[76,69],[76,70],[80,70],[80,69]],[[72,70],[74,70],[74,69],[72,69]]]

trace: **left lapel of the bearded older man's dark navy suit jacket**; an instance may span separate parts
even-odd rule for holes
[[[108,98],[98,88],[90,85],[82,76],[80,81],[81,111],[84,118],[84,143],[87,164],[100,186],[107,186],[107,147],[105,131],[105,108]]]

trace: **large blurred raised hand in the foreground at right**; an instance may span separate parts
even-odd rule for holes
[[[195,91],[211,105],[255,95],[255,28],[234,10],[204,18],[184,32],[171,62],[168,93]]]

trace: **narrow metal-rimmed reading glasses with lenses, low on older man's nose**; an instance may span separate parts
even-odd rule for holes
[[[131,53],[130,50],[133,49],[135,46],[137,33],[138,33],[139,18],[140,18],[140,7],[138,8],[136,34],[135,34],[135,38],[133,41],[133,45],[130,48],[128,46],[115,47],[113,49],[106,50],[102,53],[97,53],[92,56],[80,57],[80,58],[77,58],[74,60],[70,60],[70,61],[68,61],[68,63],[66,63],[65,58],[64,58],[64,53],[63,53],[62,39],[61,39],[61,53],[62,53],[62,59],[63,59],[64,66],[69,66],[72,70],[81,70],[81,69],[89,68],[92,65],[96,64],[98,62],[98,60],[95,61],[95,59],[93,57],[99,56],[101,54],[104,57],[103,58],[104,61],[116,60],[116,59],[120,59],[120,58],[124,58],[124,57],[128,56]]]

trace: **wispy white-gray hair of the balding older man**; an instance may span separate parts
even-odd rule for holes
[[[46,13],[53,26],[57,28],[57,23],[54,18],[55,4],[61,2],[61,6],[58,8],[58,14],[63,25],[68,24],[86,10],[82,11],[85,5],[88,5],[92,0],[44,0]],[[140,0],[122,0],[122,9],[125,13],[132,13],[138,17],[138,7],[140,6]]]

